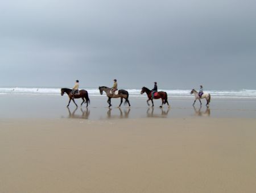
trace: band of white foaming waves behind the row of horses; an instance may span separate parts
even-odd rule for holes
[[[85,89],[85,88],[81,88]],[[85,89],[88,91],[89,96],[104,96],[100,95],[100,92],[97,88]],[[126,89],[129,92],[129,96],[134,98],[144,98],[146,94],[141,95],[140,89]],[[193,98],[193,95],[190,94],[191,90],[165,90],[169,98]],[[212,98],[230,98],[230,99],[256,99],[256,90],[206,90],[212,95]],[[1,87],[0,95],[60,95],[60,88],[36,88],[36,87]]]

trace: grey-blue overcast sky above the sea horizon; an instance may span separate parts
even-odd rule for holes
[[[256,89],[256,1],[0,1],[0,86]]]

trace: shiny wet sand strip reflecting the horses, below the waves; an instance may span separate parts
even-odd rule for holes
[[[199,101],[192,106],[193,98],[173,99],[170,96],[171,108],[164,105],[160,109],[160,100],[155,100],[155,107],[148,108],[146,96],[140,99],[130,98],[131,108],[121,106],[117,108],[119,99],[113,99],[113,107],[108,108],[106,96],[92,96],[88,108],[82,108],[71,102],[67,108],[66,95],[0,95],[0,118],[2,119],[30,119],[30,118],[80,118],[90,120],[118,119],[118,118],[192,118],[208,116],[211,118],[256,118],[256,100],[212,99],[210,107],[205,107],[205,100],[200,107]],[[76,100],[77,104],[82,102]]]

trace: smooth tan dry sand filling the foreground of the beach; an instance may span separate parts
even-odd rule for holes
[[[0,192],[256,192],[255,119],[0,122]]]

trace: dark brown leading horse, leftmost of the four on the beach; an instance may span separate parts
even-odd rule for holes
[[[69,103],[71,102],[71,100],[73,100],[73,102],[76,104],[75,100],[73,99],[73,94],[71,93],[71,91],[72,91],[72,89],[67,89],[67,88],[62,88],[60,90],[61,96],[63,96],[64,93],[67,93],[67,95],[69,97],[68,106],[69,106]],[[88,107],[88,103],[90,103],[90,99],[88,97],[88,92],[86,90],[79,90],[79,94],[75,94],[74,98],[75,99],[82,98],[82,103],[84,103],[86,100],[86,107]],[[82,106],[82,103],[81,103],[81,106]],[[77,104],[76,104],[76,106],[77,106]]]

